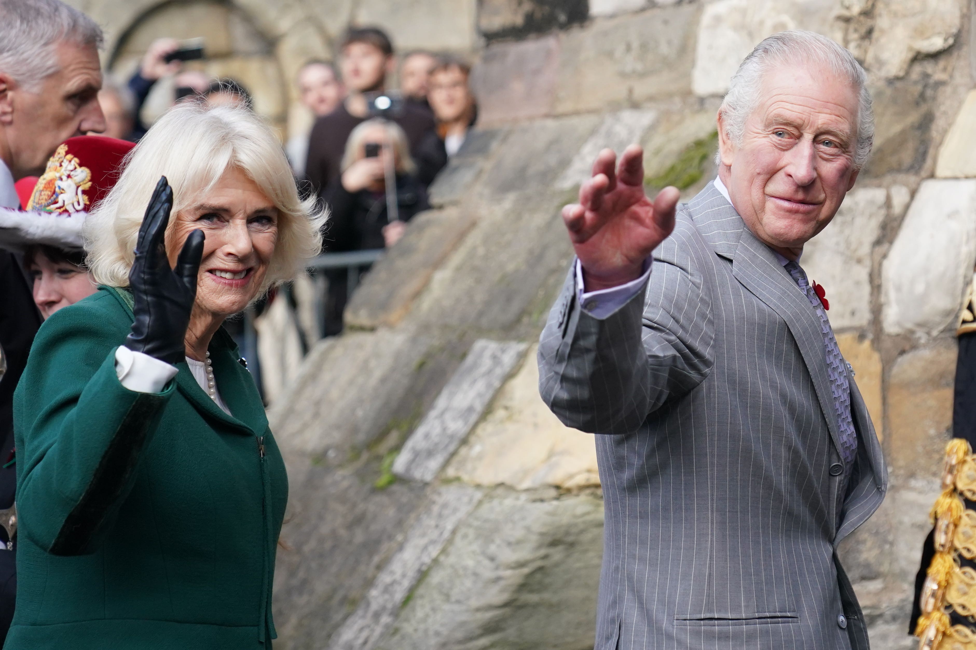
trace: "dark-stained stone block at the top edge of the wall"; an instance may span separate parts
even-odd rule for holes
[[[481,0],[478,31],[489,41],[525,38],[587,19],[587,0]]]

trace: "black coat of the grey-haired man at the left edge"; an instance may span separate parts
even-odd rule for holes
[[[0,345],[7,357],[7,372],[0,379],[0,509],[14,504],[17,466],[9,463],[14,448],[14,389],[27,364],[34,334],[41,326],[30,288],[13,253],[0,249]],[[7,551],[7,533],[0,528],[0,645],[14,618],[17,594],[16,541]]]

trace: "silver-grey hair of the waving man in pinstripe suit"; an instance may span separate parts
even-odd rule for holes
[[[729,84],[718,109],[724,118],[726,134],[733,142],[742,142],[746,121],[759,101],[762,76],[783,63],[812,63],[829,68],[848,79],[858,91],[857,141],[854,165],[861,169],[868,161],[874,141],[874,108],[868,91],[868,75],[850,52],[826,36],[812,31],[781,31],[765,39],[743,59]],[[715,155],[719,161],[719,155]]]

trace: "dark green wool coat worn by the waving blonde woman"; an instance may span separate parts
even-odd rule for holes
[[[218,390],[186,363],[129,391],[115,349],[128,294],[48,319],[14,397],[18,593],[7,650],[271,647],[288,479],[250,373],[222,328]]]

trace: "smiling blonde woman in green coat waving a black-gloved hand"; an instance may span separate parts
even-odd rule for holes
[[[185,103],[89,215],[102,287],[44,323],[15,396],[8,650],[270,648],[285,467],[224,319],[320,246],[270,130]]]

